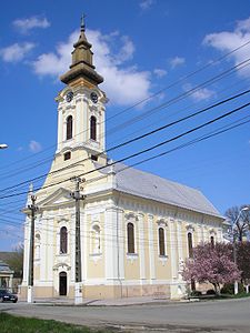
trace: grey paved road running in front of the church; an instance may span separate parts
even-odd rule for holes
[[[0,311],[88,326],[113,326],[132,332],[159,330],[186,333],[250,333],[250,299],[129,306],[49,306],[1,303]]]

